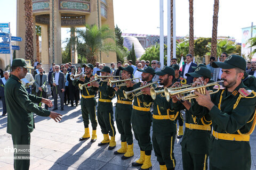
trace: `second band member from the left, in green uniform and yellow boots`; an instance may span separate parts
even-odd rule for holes
[[[110,68],[104,66],[100,70],[102,76],[110,75]],[[102,78],[105,80],[105,78]],[[103,140],[98,144],[98,146],[106,145],[109,143],[109,150],[112,150],[116,147],[115,135],[116,130],[113,121],[113,104],[111,100],[115,96],[115,90],[112,87],[108,86],[108,82],[94,81],[91,83],[92,86],[99,88],[99,104],[98,104],[98,121],[103,134]],[[111,140],[109,140],[109,135]]]

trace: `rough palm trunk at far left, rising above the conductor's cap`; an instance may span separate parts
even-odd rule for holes
[[[25,0],[25,58],[34,62],[34,46],[33,46],[33,11],[32,1]]]

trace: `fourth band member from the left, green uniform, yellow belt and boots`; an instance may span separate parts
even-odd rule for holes
[[[155,75],[155,70],[152,67],[145,67],[144,70],[137,69],[142,72],[141,80],[143,82],[151,83],[152,79]],[[143,86],[141,82],[135,84],[130,81],[129,86],[133,87],[133,89],[137,89],[140,86]],[[150,126],[151,126],[151,113],[150,107],[151,102],[147,102],[151,97],[149,95],[140,95],[135,96],[133,101],[133,109],[132,109],[132,129],[134,132],[135,139],[138,140],[138,144],[140,147],[140,158],[132,163],[132,166],[141,166],[140,169],[151,169],[151,151],[152,151],[152,143],[150,139]]]

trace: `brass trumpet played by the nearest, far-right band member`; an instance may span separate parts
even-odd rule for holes
[[[216,91],[212,91],[209,90],[210,95],[211,94],[215,94],[220,90],[220,82],[223,82],[223,80],[221,81],[217,81],[217,82],[212,82],[206,85],[199,85],[196,87],[190,87],[190,88],[185,88],[185,89],[181,89],[181,90],[172,90],[172,89],[167,89],[164,88],[164,95],[167,101],[170,101],[170,96],[174,96],[174,95],[178,95],[180,94],[181,96],[178,97],[179,100],[189,100],[189,99],[194,99],[197,98],[198,96],[196,94],[194,94],[194,91],[198,91],[201,94],[205,95],[206,94],[206,87],[210,87],[210,86],[218,86],[218,90]],[[184,96],[185,94],[188,94],[187,96]]]

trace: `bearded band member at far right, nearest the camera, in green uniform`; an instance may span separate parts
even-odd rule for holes
[[[210,169],[251,169],[250,134],[255,127],[255,92],[244,86],[244,58],[230,55],[225,62],[213,62],[222,69],[225,89],[201,95],[196,101],[209,109],[212,120]]]

